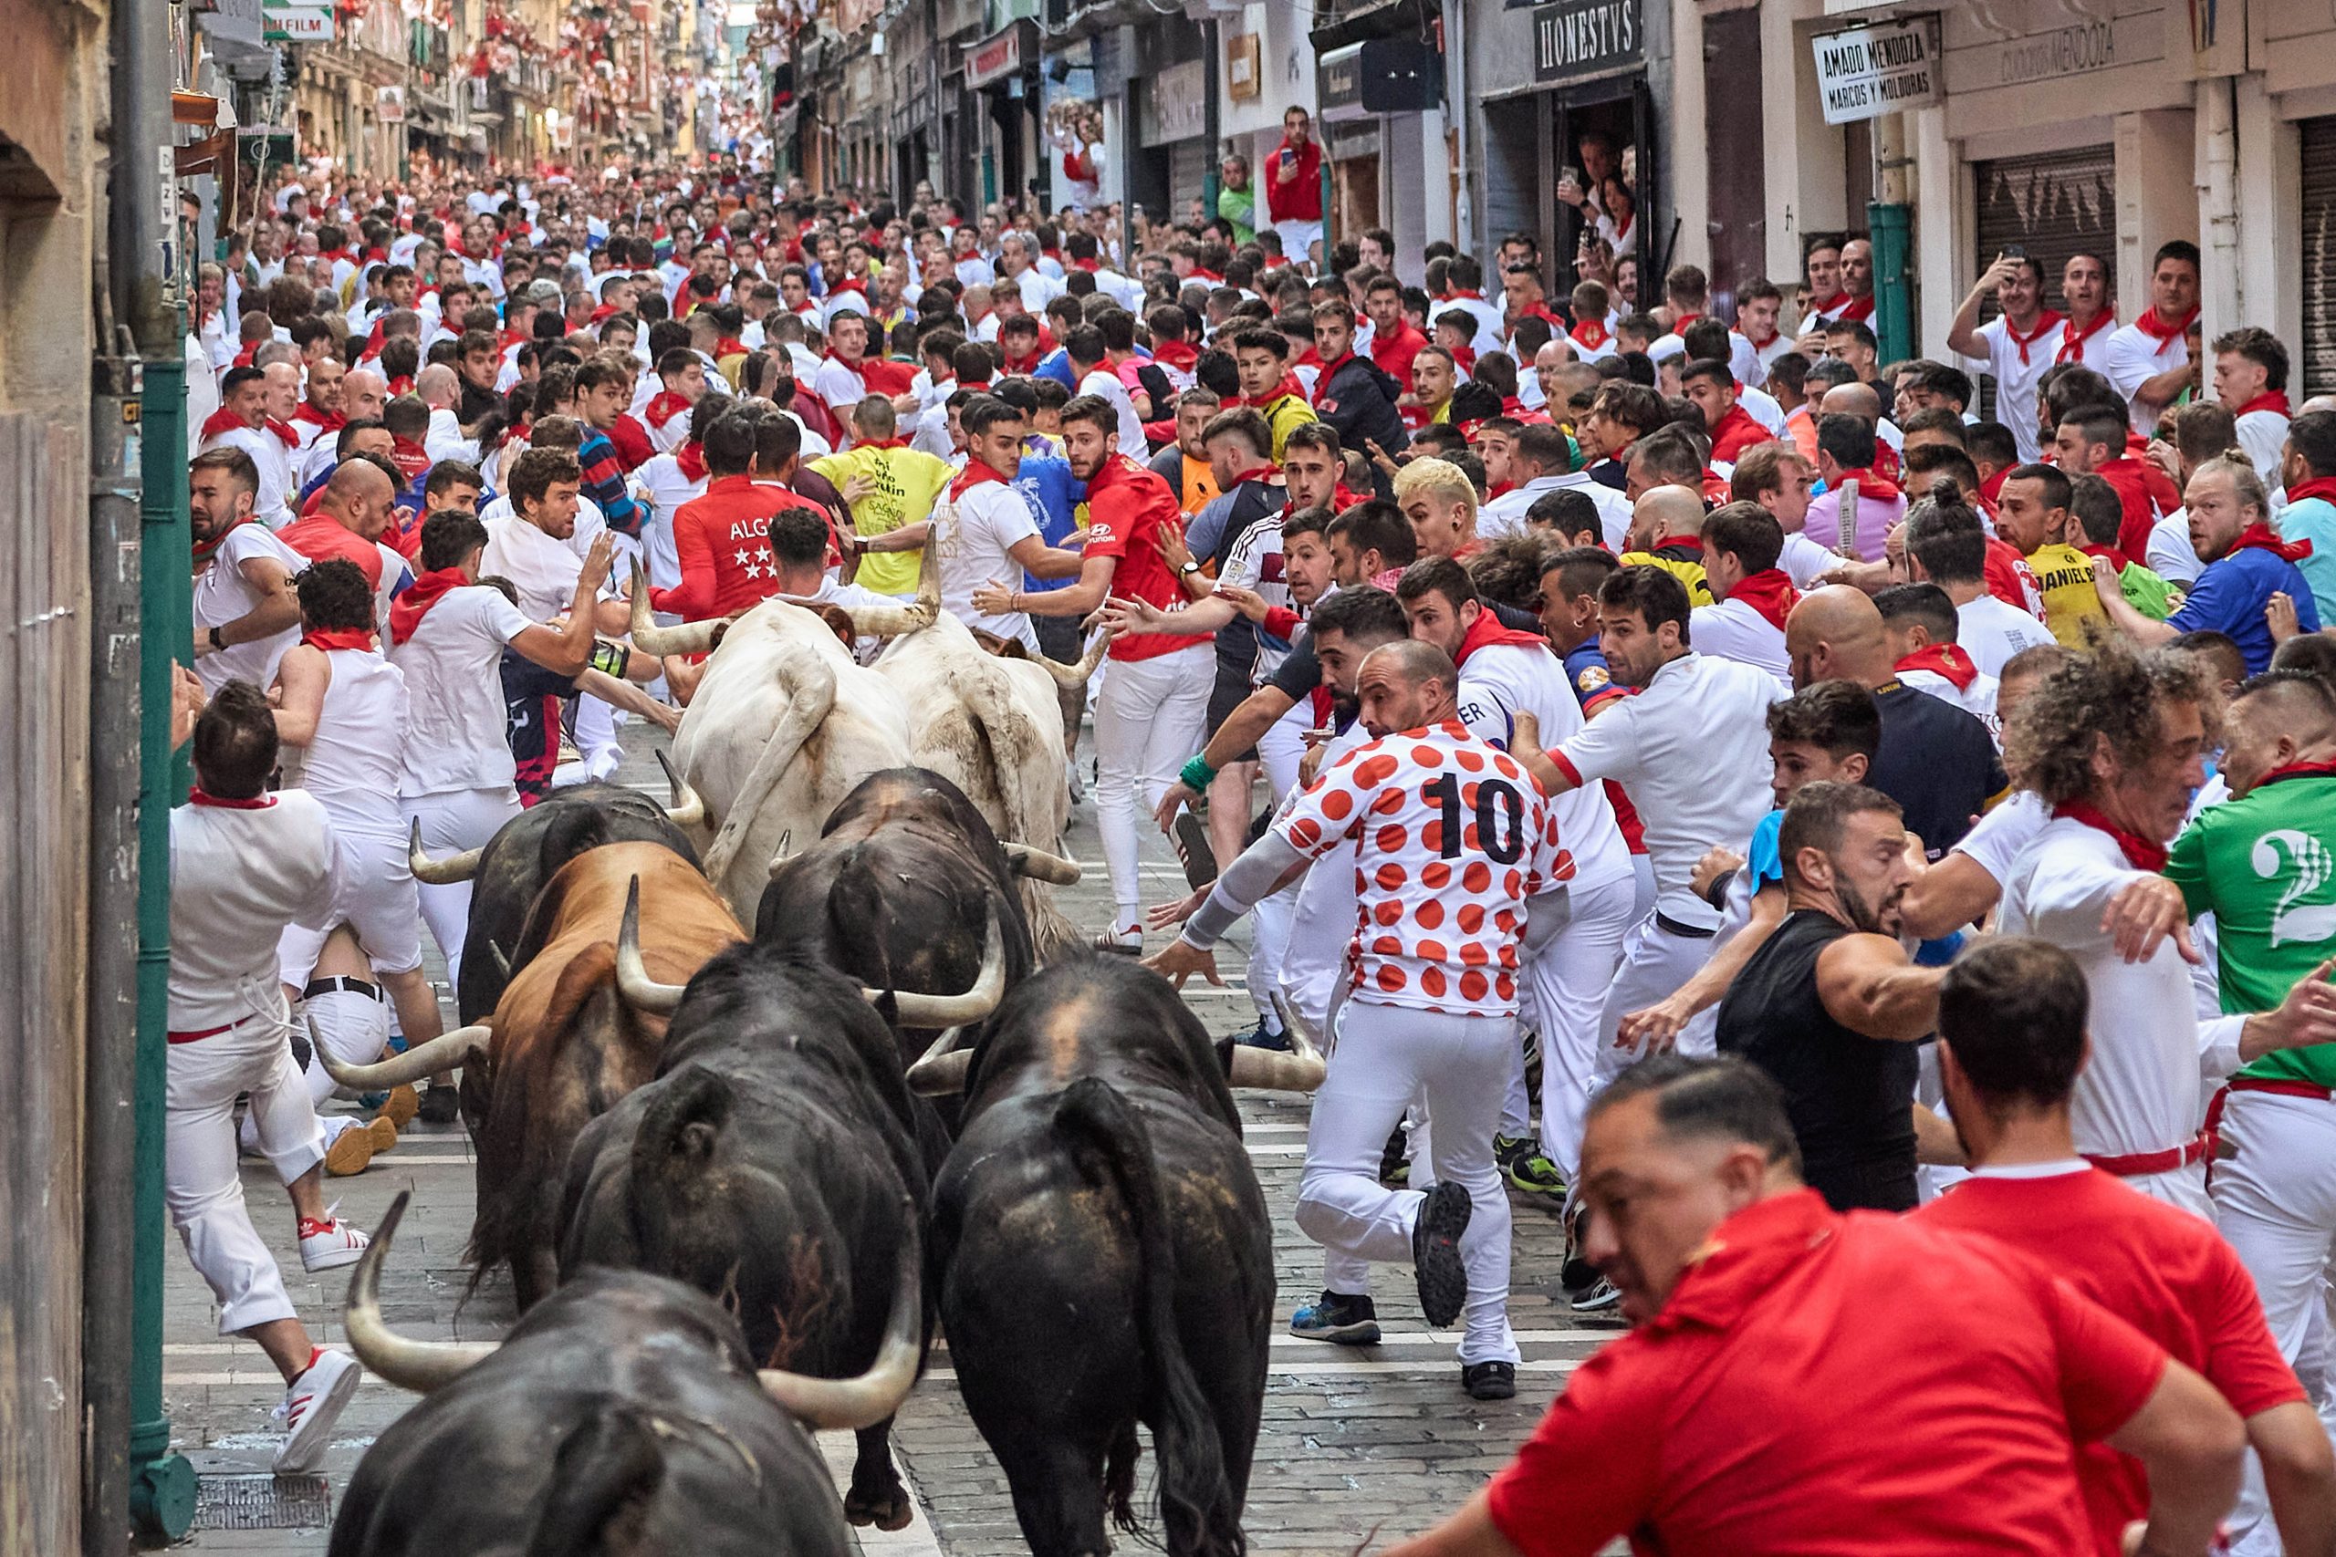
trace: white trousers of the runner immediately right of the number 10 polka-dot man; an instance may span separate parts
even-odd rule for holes
[[[1535,899],[1535,915],[1544,913],[1542,901]],[[1598,1011],[1614,983],[1635,903],[1638,882],[1631,875],[1593,887],[1570,885],[1565,920],[1546,938],[1535,934],[1523,955],[1525,1018],[1542,1039],[1542,1151],[1567,1184],[1581,1167],[1581,1120],[1598,1090]],[[1525,1134],[1530,1118],[1525,1050],[1518,1048],[1500,1132]]]

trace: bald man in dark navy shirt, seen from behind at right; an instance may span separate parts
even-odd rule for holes
[[[1829,584],[1803,595],[1785,619],[1785,654],[1794,689],[1857,682],[1873,693],[1883,745],[1866,784],[1899,803],[1906,831],[1930,859],[1962,843],[1979,812],[2009,787],[1976,714],[1897,677],[1883,614],[1864,591]]]

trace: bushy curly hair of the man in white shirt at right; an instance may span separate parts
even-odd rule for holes
[[[2135,654],[2123,640],[2102,640],[2091,654],[2067,656],[2004,726],[2004,768],[2021,789],[2049,805],[2093,794],[2093,752],[2102,740],[2121,766],[2149,761],[2161,742],[2158,705],[2191,703],[2212,745],[2222,700],[2196,656],[2175,649]]]

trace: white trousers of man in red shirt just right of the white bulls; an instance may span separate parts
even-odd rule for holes
[[[1096,696],[1096,831],[1112,871],[1114,931],[1142,922],[1138,826],[1152,824],[1152,808],[1201,749],[1215,677],[1215,649],[1198,642],[1147,661],[1112,661]]]

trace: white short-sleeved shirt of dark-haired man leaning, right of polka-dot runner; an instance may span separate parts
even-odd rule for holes
[[[1549,747],[1558,770],[1588,787],[1631,791],[1654,864],[1656,908],[1691,929],[1719,924],[1694,889],[1696,861],[1715,843],[1750,838],[1775,810],[1768,789],[1768,705],[1775,677],[1712,654],[1682,654],[1635,698],[1617,698],[1572,738]]]

